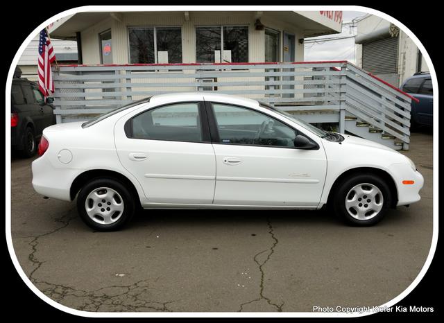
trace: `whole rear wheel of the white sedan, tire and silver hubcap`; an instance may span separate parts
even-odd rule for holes
[[[77,209],[92,229],[114,231],[133,217],[135,202],[130,191],[117,180],[96,178],[78,193]]]

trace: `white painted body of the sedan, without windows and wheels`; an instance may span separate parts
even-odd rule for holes
[[[203,100],[250,107],[273,116],[307,135],[319,149],[129,139],[123,130],[128,119],[149,108]],[[318,209],[327,202],[336,179],[359,167],[388,173],[397,188],[398,205],[418,201],[423,184],[422,175],[395,150],[348,135],[341,143],[327,141],[260,107],[257,101],[221,94],[154,96],[149,103],[87,128],[81,123],[63,123],[46,128],[43,134],[49,148],[33,161],[33,186],[37,193],[60,200],[71,200],[76,177],[92,170],[114,171],[128,178],[145,208]],[[67,150],[71,152],[68,162]],[[146,159],[136,161],[130,154],[146,155]],[[226,159],[234,164],[227,164]],[[403,180],[415,184],[404,185]]]

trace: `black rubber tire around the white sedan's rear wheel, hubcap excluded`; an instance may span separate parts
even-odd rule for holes
[[[117,200],[120,200],[123,202],[123,211],[118,213],[119,211],[115,211],[114,214],[117,214],[116,218],[118,217],[115,222],[112,222],[110,224],[102,224],[97,221],[101,220],[101,213],[97,213],[97,216],[94,216],[93,220],[87,213],[86,209],[86,202],[89,193],[92,193],[96,189],[100,188],[109,188],[113,191],[117,192],[117,195],[114,195]],[[110,191],[113,193],[112,191]],[[102,193],[99,191],[99,193]],[[106,192],[105,192],[106,193]],[[101,201],[99,201],[100,203]],[[106,202],[103,202],[104,207],[107,207],[107,203],[112,202],[109,198],[106,199]],[[94,201],[91,199],[88,199],[88,203],[94,207]],[[91,204],[92,203],[92,204]],[[99,204],[97,204],[99,205]],[[104,209],[103,209],[104,210]],[[87,182],[85,186],[83,186],[82,189],[80,189],[80,192],[77,195],[77,211],[80,215],[80,218],[82,218],[83,222],[85,222],[86,225],[91,227],[92,229],[96,231],[116,231],[118,229],[121,229],[124,225],[128,223],[128,221],[133,218],[135,213],[135,200],[133,198],[133,195],[130,193],[130,191],[121,184],[121,182],[111,179],[111,178],[95,178],[94,180],[91,180],[90,182]],[[113,210],[111,209],[110,212]],[[106,212],[106,211],[104,211]],[[105,214],[105,213],[103,213]],[[110,214],[110,213],[108,213]],[[114,215],[113,215],[114,216]],[[111,216],[111,217],[113,217]],[[108,217],[107,217],[108,218]],[[104,219],[102,217],[102,219]]]

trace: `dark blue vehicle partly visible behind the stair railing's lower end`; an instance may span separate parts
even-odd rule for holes
[[[411,128],[433,125],[433,87],[430,73],[415,73],[404,81],[402,91],[418,98],[411,102]]]

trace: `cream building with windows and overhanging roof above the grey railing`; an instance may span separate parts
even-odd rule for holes
[[[303,40],[341,31],[341,12],[79,12],[49,29],[83,64],[293,62]],[[80,59],[81,58],[81,59]]]

